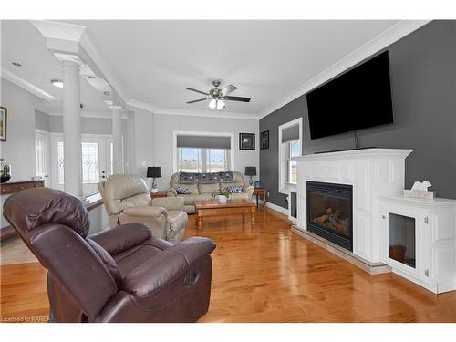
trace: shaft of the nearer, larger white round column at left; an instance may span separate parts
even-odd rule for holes
[[[82,197],[81,112],[77,60],[63,59],[63,141],[65,192]]]

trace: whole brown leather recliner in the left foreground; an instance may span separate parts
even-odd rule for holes
[[[143,223],[86,237],[83,203],[48,188],[10,196],[4,215],[48,270],[51,321],[194,322],[208,310],[210,239],[171,244]]]

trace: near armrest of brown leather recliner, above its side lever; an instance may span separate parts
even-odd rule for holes
[[[147,297],[160,291],[172,280],[181,276],[202,257],[215,248],[211,239],[191,237],[165,249],[150,263],[140,267],[123,279],[123,289],[138,297]]]

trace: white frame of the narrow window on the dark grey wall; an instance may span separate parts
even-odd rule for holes
[[[291,191],[297,192],[297,183],[288,183],[287,182],[287,174],[286,174],[286,164],[289,160],[289,144],[282,143],[282,132],[286,129],[289,129],[293,126],[299,126],[299,155],[302,154],[303,149],[303,118],[294,119],[292,121],[286,122],[283,125],[280,125],[279,130],[279,140],[278,140],[278,151],[279,151],[279,158],[278,158],[278,170],[279,170],[279,193],[283,193],[285,195],[289,195]]]

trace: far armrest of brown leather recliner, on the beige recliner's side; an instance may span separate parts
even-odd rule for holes
[[[88,236],[109,254],[125,251],[150,239],[150,228],[144,223],[127,223]]]

